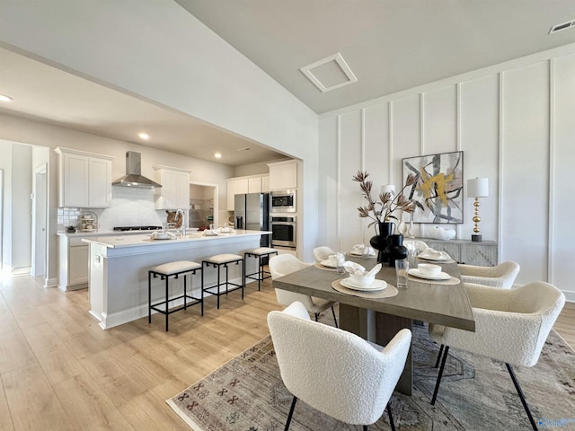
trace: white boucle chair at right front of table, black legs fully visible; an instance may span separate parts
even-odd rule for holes
[[[478,285],[465,287],[473,307],[475,332],[429,324],[431,339],[445,345],[431,404],[434,405],[438,397],[449,347],[456,347],[505,363],[529,422],[536,430],[511,365],[530,367],[537,363],[545,339],[563,308],[565,295],[543,281],[509,290]]]

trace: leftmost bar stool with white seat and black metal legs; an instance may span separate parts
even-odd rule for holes
[[[148,297],[148,309],[147,309],[147,322],[152,323],[152,310],[155,312],[161,312],[165,315],[165,330],[168,330],[168,315],[173,312],[179,312],[181,310],[186,310],[188,306],[195,305],[197,303],[201,304],[201,315],[204,315],[204,291],[200,289],[200,297],[193,295],[188,295],[187,290],[187,276],[196,274],[196,271],[201,270],[202,266],[198,262],[192,262],[190,260],[178,260],[175,262],[167,262],[161,265],[156,265],[148,270],[147,273],[147,297]],[[183,274],[183,295],[175,296],[170,298],[169,292],[169,278],[178,278]],[[165,300],[159,303],[152,303],[152,277],[160,277],[161,280],[165,280]],[[202,277],[203,278],[203,277]],[[203,280],[202,280],[203,281]],[[203,287],[203,284],[202,284]],[[170,303],[183,299],[183,305],[170,310]],[[192,300],[188,303],[188,299]]]

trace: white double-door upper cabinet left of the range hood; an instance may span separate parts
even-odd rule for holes
[[[111,206],[110,155],[58,147],[58,207]]]

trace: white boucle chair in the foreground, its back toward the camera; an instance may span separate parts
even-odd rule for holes
[[[305,306],[295,302],[268,314],[279,372],[294,396],[285,430],[302,400],[326,415],[354,425],[376,422],[387,408],[411,344],[411,330],[400,330],[386,347],[355,334],[311,321]]]

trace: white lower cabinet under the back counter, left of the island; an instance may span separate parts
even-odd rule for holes
[[[82,238],[59,236],[58,287],[77,290],[88,286],[88,244]]]

